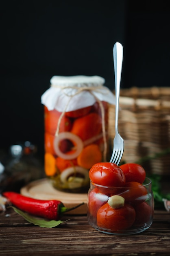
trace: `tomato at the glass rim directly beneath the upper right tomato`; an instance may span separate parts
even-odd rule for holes
[[[139,182],[126,182],[123,189],[124,191],[119,195],[125,199],[125,202],[141,203],[147,198],[147,189]]]

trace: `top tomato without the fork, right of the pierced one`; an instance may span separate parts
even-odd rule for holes
[[[136,181],[143,183],[146,177],[144,168],[139,164],[122,164],[120,166],[126,176],[126,182]]]

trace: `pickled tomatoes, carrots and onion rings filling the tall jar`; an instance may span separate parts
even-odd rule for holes
[[[105,114],[106,106],[103,102]],[[107,121],[104,126],[106,129]],[[76,193],[88,191],[89,169],[103,159],[105,142],[100,106],[95,103],[65,113],[49,111],[45,106],[44,139],[45,173],[53,186]]]

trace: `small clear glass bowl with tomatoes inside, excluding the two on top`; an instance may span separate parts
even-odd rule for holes
[[[107,234],[137,234],[153,222],[154,199],[151,180],[143,184],[102,186],[91,182],[87,200],[89,224]]]

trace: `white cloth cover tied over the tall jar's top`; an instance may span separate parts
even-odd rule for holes
[[[41,96],[41,103],[48,110],[63,112],[68,101],[65,112],[85,108],[96,102],[95,97],[115,104],[115,96],[103,86],[105,79],[100,76],[52,76],[50,83],[50,88]]]

